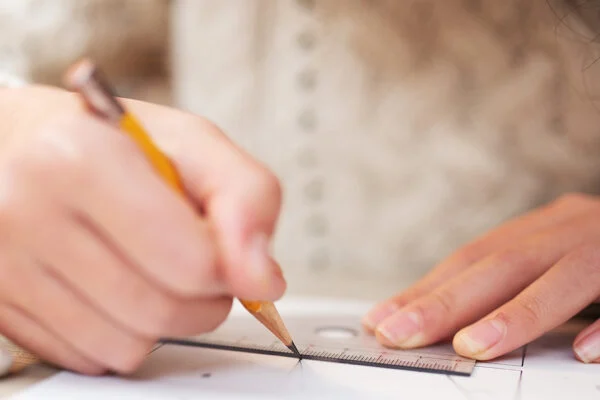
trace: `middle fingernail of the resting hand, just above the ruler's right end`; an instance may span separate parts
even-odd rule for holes
[[[456,335],[455,343],[461,354],[477,355],[495,346],[506,333],[506,325],[497,319],[482,321]]]

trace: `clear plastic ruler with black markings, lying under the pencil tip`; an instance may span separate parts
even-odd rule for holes
[[[471,375],[475,361],[458,356],[450,344],[393,350],[364,332],[355,316],[285,316],[285,324],[304,359],[379,368]],[[251,316],[230,317],[215,331],[163,343],[295,357]]]

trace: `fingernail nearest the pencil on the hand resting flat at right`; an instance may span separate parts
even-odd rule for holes
[[[399,311],[377,327],[377,332],[398,347],[414,347],[423,342],[421,317],[415,312]]]

